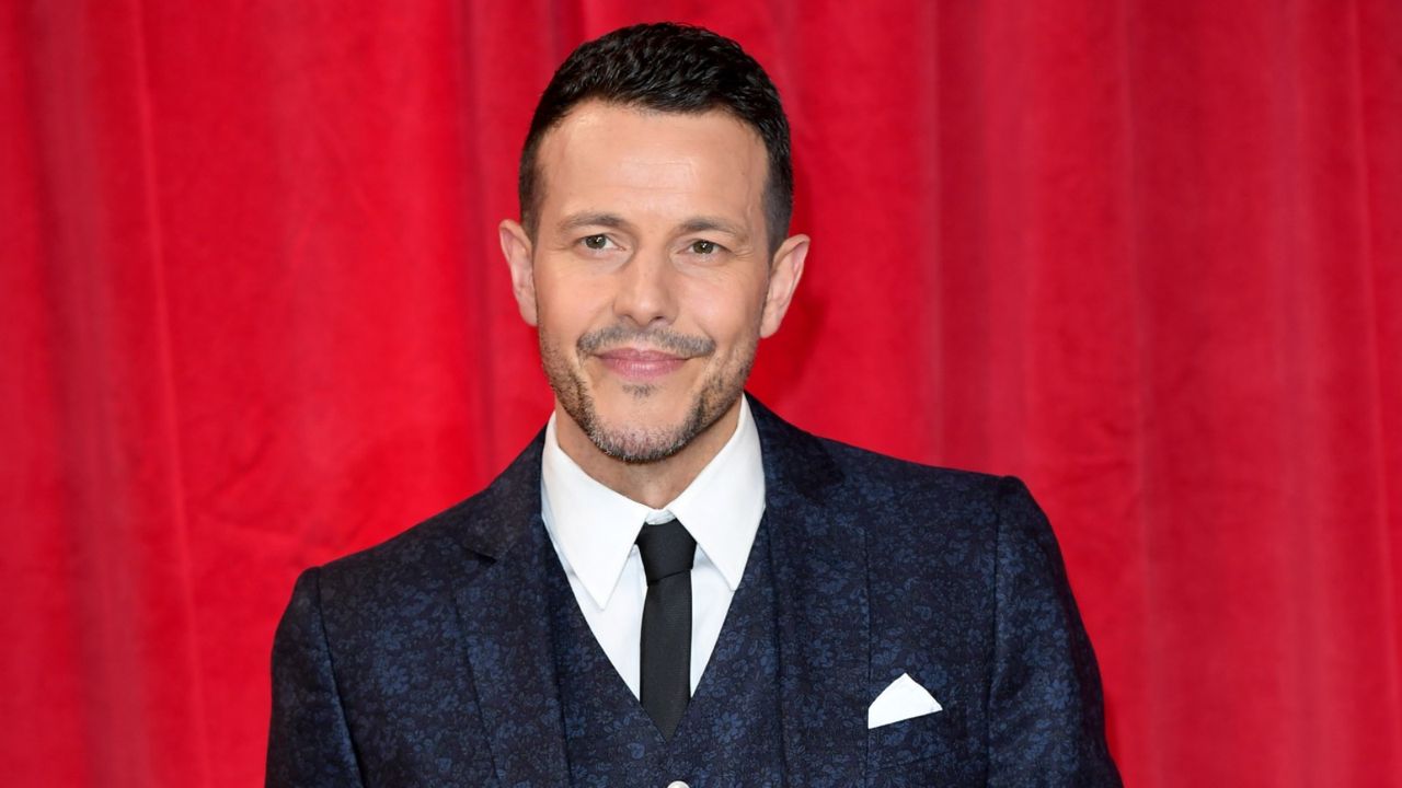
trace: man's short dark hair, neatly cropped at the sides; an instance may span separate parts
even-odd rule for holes
[[[700,27],[660,22],[620,28],[580,43],[550,80],[536,105],[517,175],[522,224],[531,237],[541,201],[540,140],[589,100],[659,112],[723,109],[753,128],[768,151],[764,222],[770,251],[788,236],[794,165],[778,90],[735,41]]]

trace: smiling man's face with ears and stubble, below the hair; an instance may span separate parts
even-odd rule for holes
[[[585,102],[537,161],[536,237],[502,248],[557,401],[603,453],[669,457],[737,404],[808,238],[770,255],[764,143],[721,111]]]

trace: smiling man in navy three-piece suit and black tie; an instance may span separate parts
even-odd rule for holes
[[[481,494],[299,579],[269,784],[1119,784],[1022,484],[744,397],[809,250],[753,59],[667,24],[582,45],[520,201],[555,412]]]

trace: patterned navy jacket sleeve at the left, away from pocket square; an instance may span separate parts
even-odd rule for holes
[[[331,669],[317,569],[297,578],[273,637],[266,784],[269,788],[362,784]]]

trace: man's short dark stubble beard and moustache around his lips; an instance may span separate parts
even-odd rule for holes
[[[701,390],[697,391],[691,407],[687,409],[687,415],[680,423],[644,428],[627,423],[610,425],[600,418],[599,409],[594,407],[589,381],[582,373],[583,359],[589,358],[592,349],[597,349],[610,341],[615,344],[624,337],[645,337],[649,341],[648,344],[660,348],[677,349],[679,346],[684,346],[693,351],[693,358],[714,352],[715,342],[670,332],[610,328],[580,337],[575,348],[575,358],[580,362],[579,365],[573,365],[550,341],[550,331],[544,324],[538,327],[537,337],[545,379],[550,381],[551,390],[555,391],[555,398],[565,409],[565,414],[579,425],[579,429],[589,436],[589,440],[600,451],[614,460],[629,464],[656,463],[674,456],[725,415],[744,393],[744,381],[750,376],[750,367],[754,365],[754,353],[758,346],[758,337],[756,335],[747,341],[746,346],[740,348],[740,355],[735,362],[712,373]],[[641,401],[655,395],[658,387],[651,384],[627,384],[624,386],[624,391]]]

